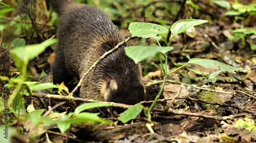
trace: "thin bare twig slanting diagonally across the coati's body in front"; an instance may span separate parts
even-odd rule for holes
[[[125,41],[118,43],[115,46],[115,48],[105,52],[102,56],[100,56],[100,58],[96,62],[93,63],[93,65],[87,70],[87,72],[83,74],[82,78],[80,79],[80,81],[76,85],[75,89],[69,94],[69,96],[73,96],[74,95],[74,93],[80,87],[80,85],[81,85],[82,81],[84,80],[84,78],[86,78],[86,76],[89,74],[89,72],[99,63],[100,60],[105,58],[106,55],[108,55],[108,54],[112,53],[113,51],[115,51],[116,49],[118,49],[121,45],[123,45],[124,43],[128,42],[130,39],[131,39],[131,37],[128,37],[127,39],[125,39]]]

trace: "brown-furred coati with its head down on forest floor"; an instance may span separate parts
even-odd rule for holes
[[[53,82],[81,78],[99,57],[124,38],[101,10],[73,0],[49,0],[59,16],[58,45]],[[135,104],[145,99],[141,69],[122,45],[88,74],[80,87],[81,98]]]

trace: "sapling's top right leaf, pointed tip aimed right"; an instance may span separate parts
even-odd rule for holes
[[[188,30],[188,28],[203,24],[208,22],[207,20],[200,20],[200,19],[184,19],[184,20],[179,20],[175,22],[172,27],[170,27],[170,31],[172,32],[172,37],[175,35],[178,35],[182,32],[185,32]]]

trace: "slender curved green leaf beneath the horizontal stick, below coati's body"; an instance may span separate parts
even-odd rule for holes
[[[84,103],[82,105],[79,105],[75,109],[75,114],[80,113],[83,110],[91,109],[91,108],[96,108],[96,107],[106,107],[106,106],[113,106],[112,104],[109,103],[101,103],[101,102],[94,102],[94,103]]]

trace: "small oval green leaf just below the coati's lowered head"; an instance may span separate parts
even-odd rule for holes
[[[143,109],[143,105],[141,104],[135,104],[134,106],[130,106],[127,110],[122,112],[120,114],[120,117],[118,117],[118,120],[121,121],[122,123],[126,123],[132,119],[135,119],[139,113]]]

